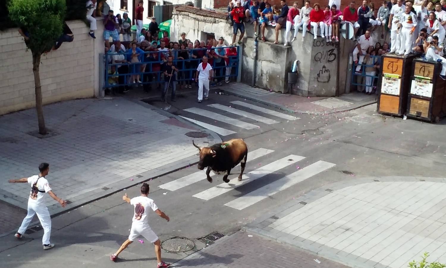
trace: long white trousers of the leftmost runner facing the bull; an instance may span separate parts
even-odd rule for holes
[[[26,217],[23,219],[22,225],[17,232],[24,234],[35,214],[37,214],[40,225],[43,227],[42,244],[47,245],[50,243],[51,217],[50,212],[48,212],[48,208],[45,205],[37,205],[34,202],[28,202],[28,214],[26,214]]]

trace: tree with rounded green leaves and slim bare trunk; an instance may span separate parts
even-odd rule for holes
[[[33,55],[33,74],[39,133],[46,134],[40,84],[41,55],[49,52],[62,34],[66,12],[65,0],[8,0],[11,20],[20,28],[26,46]]]

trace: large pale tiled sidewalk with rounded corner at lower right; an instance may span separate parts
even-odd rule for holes
[[[446,262],[446,179],[369,177],[296,197],[244,230],[359,268]]]

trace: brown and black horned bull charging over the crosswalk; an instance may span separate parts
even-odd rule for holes
[[[248,156],[248,147],[243,139],[234,138],[227,142],[216,143],[211,147],[199,147],[194,141],[192,141],[192,144],[200,151],[198,169],[203,170],[207,167],[206,178],[209,182],[212,182],[212,178],[209,176],[212,170],[215,174],[224,174],[223,181],[228,183],[227,176],[231,174],[231,168],[234,168],[239,163],[242,167],[239,181],[242,180]]]

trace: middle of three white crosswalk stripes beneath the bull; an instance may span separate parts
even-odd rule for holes
[[[289,159],[292,159],[289,161]],[[297,163],[298,161],[305,159],[304,156],[299,155],[288,155],[282,159],[276,160],[272,163],[269,163],[267,165],[264,165],[263,167],[259,167],[256,170],[253,170],[252,172],[248,172],[243,175],[242,180],[238,181],[235,178],[231,180],[230,183],[222,183],[215,187],[209,188],[207,190],[204,190],[200,193],[194,194],[193,197],[197,197],[203,200],[210,200],[214,197],[217,197],[223,193],[227,193],[231,191],[232,189],[239,187],[243,184],[247,184],[248,182],[251,182],[253,180],[257,180],[265,175],[268,175],[270,173],[276,172],[280,170],[281,168],[284,168],[286,166],[289,166],[293,163]]]

